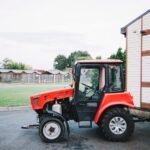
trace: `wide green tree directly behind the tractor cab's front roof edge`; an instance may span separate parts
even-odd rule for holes
[[[87,51],[75,51],[68,56],[68,67],[72,67],[76,60],[92,59]]]

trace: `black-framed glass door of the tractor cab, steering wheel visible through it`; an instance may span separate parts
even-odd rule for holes
[[[100,65],[81,65],[76,88],[76,111],[78,121],[92,121],[102,99],[102,68]],[[105,80],[105,78],[104,78]]]

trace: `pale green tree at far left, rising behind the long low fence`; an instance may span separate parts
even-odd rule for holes
[[[21,62],[15,62],[9,58],[5,58],[2,62],[4,69],[20,69],[20,70],[25,70],[25,69],[32,69],[30,66],[26,66],[25,64]]]

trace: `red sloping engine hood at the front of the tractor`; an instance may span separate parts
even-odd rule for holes
[[[31,105],[34,110],[42,109],[44,105],[55,99],[64,99],[67,97],[73,97],[73,88],[64,88],[54,90],[51,92],[44,92],[30,97]],[[38,103],[34,103],[34,99],[38,98]]]

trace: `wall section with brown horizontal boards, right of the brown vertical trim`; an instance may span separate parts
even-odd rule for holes
[[[143,16],[142,30],[150,30],[150,13]],[[142,96],[141,105],[150,109],[150,34],[142,35]]]

